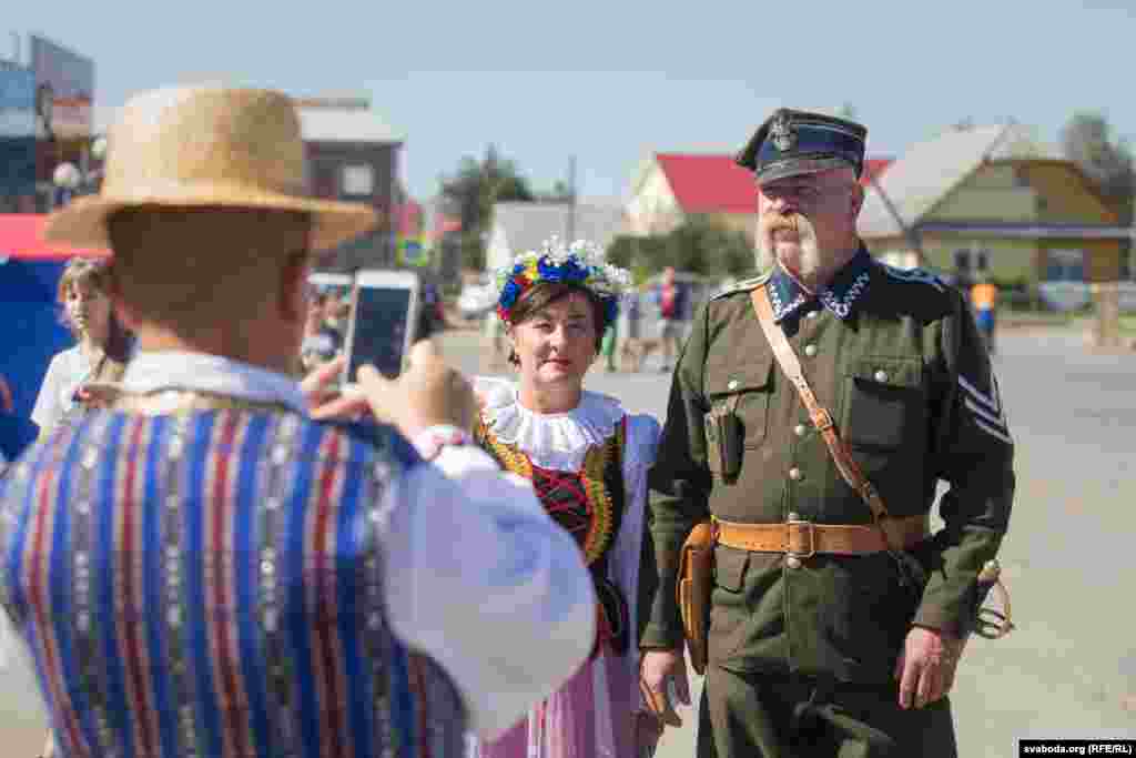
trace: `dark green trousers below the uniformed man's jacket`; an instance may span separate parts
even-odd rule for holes
[[[807,677],[710,666],[699,758],[957,758],[947,698],[903,710],[896,686],[825,686]]]

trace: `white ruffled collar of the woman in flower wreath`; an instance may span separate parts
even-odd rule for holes
[[[615,398],[598,392],[580,397],[579,405],[562,414],[538,414],[520,405],[511,382],[477,382],[485,405],[482,418],[499,441],[516,445],[541,468],[578,470],[587,449],[616,433],[624,408]]]

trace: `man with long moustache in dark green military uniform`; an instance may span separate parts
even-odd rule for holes
[[[713,516],[700,756],[957,755],[946,695],[1006,531],[1013,442],[962,295],[875,261],[857,236],[866,134],[793,110],[758,130],[737,160],[777,263],[707,303],[675,370],[651,475],[659,588],[643,680],[688,692],[676,570]],[[778,365],[759,288],[886,505],[889,541]],[[928,538],[939,480],[945,527]]]

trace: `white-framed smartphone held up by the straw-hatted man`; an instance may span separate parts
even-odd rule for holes
[[[415,343],[420,291],[414,272],[364,269],[356,274],[344,345],[345,390],[353,388],[356,373],[366,364],[389,378],[402,373]]]

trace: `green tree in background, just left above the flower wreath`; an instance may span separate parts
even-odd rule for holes
[[[534,200],[533,191],[516,164],[502,158],[494,145],[481,160],[461,159],[453,176],[442,177],[442,197],[461,217],[462,264],[482,268],[485,261],[485,235],[492,222],[493,203],[508,200]]]

